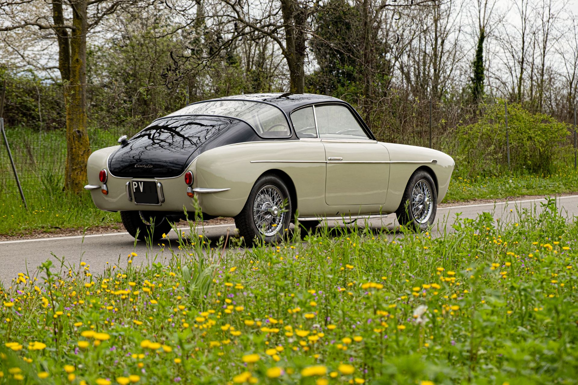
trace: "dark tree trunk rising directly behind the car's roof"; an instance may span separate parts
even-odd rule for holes
[[[305,91],[307,10],[301,8],[297,0],[281,0],[281,12],[285,24],[284,56],[289,68],[290,92],[302,94]]]

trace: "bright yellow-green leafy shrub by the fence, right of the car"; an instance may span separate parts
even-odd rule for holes
[[[507,168],[504,101],[481,107],[479,121],[457,128],[454,156],[460,175],[551,174],[569,159],[570,126],[549,115],[508,104],[510,169]]]

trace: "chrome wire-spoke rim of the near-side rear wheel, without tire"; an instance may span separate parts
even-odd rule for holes
[[[259,190],[253,202],[253,220],[261,234],[270,237],[283,227],[287,215],[283,204],[283,193],[276,186],[266,185]]]

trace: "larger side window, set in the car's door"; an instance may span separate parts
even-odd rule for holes
[[[325,139],[369,139],[345,106],[316,106],[319,137]]]

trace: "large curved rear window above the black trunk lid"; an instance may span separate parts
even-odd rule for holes
[[[252,100],[209,100],[194,103],[171,115],[224,115],[249,122],[260,136],[287,137],[291,130],[285,115],[271,104]]]

